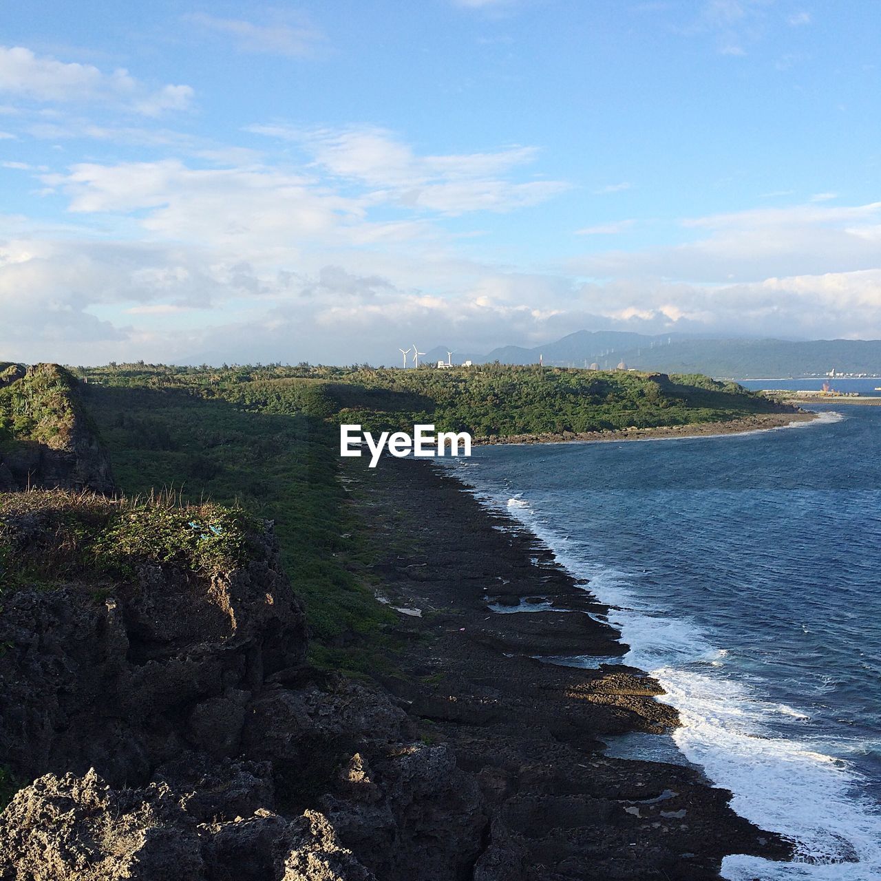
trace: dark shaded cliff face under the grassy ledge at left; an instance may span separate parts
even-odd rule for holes
[[[144,784],[188,750],[237,754],[248,700],[303,663],[306,622],[267,533],[213,579],[144,567],[111,597],[19,590],[0,642],[0,754],[19,777],[94,766]]]

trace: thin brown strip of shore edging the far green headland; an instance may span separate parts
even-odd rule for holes
[[[806,402],[801,403],[818,403]],[[509,434],[506,437],[478,437],[472,443],[476,447],[492,447],[500,444],[543,443],[610,443],[613,441],[655,441],[669,438],[718,437],[721,434],[747,434],[770,431],[802,422],[811,422],[819,414],[809,411],[789,413],[755,413],[736,419],[715,422],[694,422],[683,426],[654,426],[651,428],[616,428],[600,432],[563,432],[539,434]]]

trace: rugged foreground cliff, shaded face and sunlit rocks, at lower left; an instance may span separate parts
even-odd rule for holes
[[[51,550],[50,521],[6,518],[16,559]],[[458,881],[478,858],[454,752],[307,665],[268,526],[216,574],[19,583],[0,644],[0,754],[33,781],[0,815],[0,881]]]

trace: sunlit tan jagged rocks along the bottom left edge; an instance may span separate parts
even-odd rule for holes
[[[198,823],[166,784],[46,774],[0,815],[0,881],[375,881],[316,811]]]

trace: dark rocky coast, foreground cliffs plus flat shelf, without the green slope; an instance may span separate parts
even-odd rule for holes
[[[372,549],[348,565],[396,613],[351,677],[308,663],[271,522],[108,499],[70,425],[0,492],[0,881],[709,881],[788,856],[700,770],[604,753],[675,710],[606,663],[626,646],[589,585],[448,471],[344,465]]]

